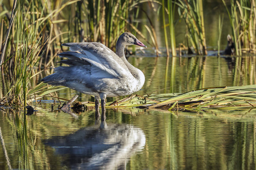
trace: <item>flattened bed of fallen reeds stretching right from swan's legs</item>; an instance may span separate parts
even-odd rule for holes
[[[93,103],[87,103],[94,107]],[[117,103],[106,103],[106,108],[139,107],[168,110],[241,109],[256,107],[256,85],[214,87],[184,94],[131,95]]]

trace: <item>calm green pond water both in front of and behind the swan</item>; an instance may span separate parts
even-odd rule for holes
[[[255,84],[255,58],[130,57],[146,76],[138,94],[187,92],[204,87]],[[70,99],[76,91],[63,90]],[[80,101],[93,97],[81,95]],[[109,98],[108,101],[115,100]],[[0,169],[255,169],[255,109],[169,112],[107,109],[106,123],[94,111],[51,111],[48,100],[23,117],[0,109],[5,150]],[[18,116],[20,115],[20,116]],[[27,122],[27,126],[24,125]],[[27,141],[27,142],[26,142]],[[1,148],[3,145],[1,144]]]

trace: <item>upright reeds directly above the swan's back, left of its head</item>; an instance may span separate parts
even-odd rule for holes
[[[88,1],[82,3],[84,18],[88,23],[84,24],[86,41],[99,41],[115,47],[117,37],[127,29],[126,20],[131,14],[131,20],[138,16],[135,8],[130,8],[133,1]],[[133,11],[133,12],[130,12]]]

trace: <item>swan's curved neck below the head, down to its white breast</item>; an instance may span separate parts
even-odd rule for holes
[[[135,79],[138,80],[138,87],[142,88],[145,82],[145,76],[141,70],[137,69],[127,61],[127,59],[125,58],[125,44],[119,41],[120,40],[118,39],[115,54],[117,54],[117,56],[122,59],[130,73],[134,76]]]

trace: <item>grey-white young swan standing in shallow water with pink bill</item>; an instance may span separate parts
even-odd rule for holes
[[[69,42],[68,52],[58,54],[66,57],[60,63],[69,66],[55,68],[55,73],[46,76],[42,82],[53,86],[66,86],[95,98],[96,116],[99,116],[101,100],[102,117],[105,120],[105,99],[125,96],[141,90],[145,77],[141,70],[131,65],[125,58],[126,45],[146,47],[133,34],[122,33],[114,53],[100,42]]]

